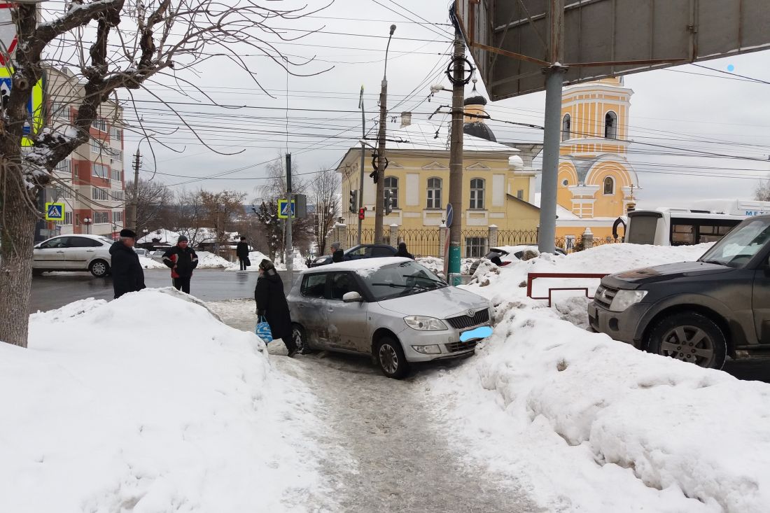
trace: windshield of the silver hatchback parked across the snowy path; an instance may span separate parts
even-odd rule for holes
[[[360,275],[375,301],[448,287],[444,280],[412,260],[360,272]]]

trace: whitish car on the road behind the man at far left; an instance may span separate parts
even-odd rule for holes
[[[112,263],[109,246],[113,242],[101,235],[59,235],[44,240],[32,250],[32,274],[69,270],[105,277]]]

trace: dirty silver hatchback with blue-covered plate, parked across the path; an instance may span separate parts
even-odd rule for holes
[[[313,267],[286,299],[298,347],[370,354],[394,378],[413,362],[472,354],[478,340],[460,334],[494,318],[484,297],[397,257]]]

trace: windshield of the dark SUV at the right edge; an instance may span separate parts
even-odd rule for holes
[[[770,240],[770,219],[745,220],[708,250],[700,262],[743,267]]]

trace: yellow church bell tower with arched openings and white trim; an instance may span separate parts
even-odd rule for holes
[[[639,182],[626,159],[633,93],[622,78],[564,89],[557,237],[579,237],[590,228],[595,240],[606,240],[614,220],[634,207]]]

